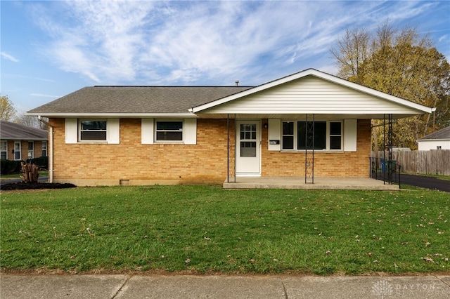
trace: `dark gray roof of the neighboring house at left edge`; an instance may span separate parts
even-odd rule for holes
[[[0,139],[2,140],[49,140],[49,131],[31,128],[9,121],[0,121]]]

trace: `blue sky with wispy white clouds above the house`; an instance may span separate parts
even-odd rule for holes
[[[417,27],[450,57],[450,1],[1,1],[1,95],[18,112],[84,86],[254,86],[336,74],[347,28]]]

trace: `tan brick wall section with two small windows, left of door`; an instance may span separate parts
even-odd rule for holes
[[[65,144],[65,120],[50,119],[50,124],[55,182],[139,185],[221,183],[226,178],[226,119],[198,119],[196,145],[143,145],[141,119],[120,119],[118,145]]]

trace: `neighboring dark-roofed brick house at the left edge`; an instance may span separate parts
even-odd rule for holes
[[[49,131],[0,121],[0,157],[25,161],[48,155]]]

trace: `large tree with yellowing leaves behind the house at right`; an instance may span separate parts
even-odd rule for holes
[[[437,107],[433,116],[396,121],[394,145],[416,148],[418,138],[445,126],[445,119],[449,118],[448,106],[442,105],[442,101],[449,97],[450,65],[428,36],[421,37],[416,28],[411,27],[398,31],[389,22],[383,22],[375,35],[366,29],[347,30],[337,45],[338,48],[330,51],[340,77],[421,105]],[[378,130],[374,135],[382,140],[380,130],[383,127],[374,130]]]

